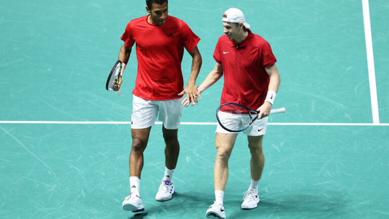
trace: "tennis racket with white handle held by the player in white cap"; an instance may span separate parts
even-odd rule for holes
[[[270,114],[285,113],[285,108],[271,109]],[[216,110],[217,122],[230,132],[240,132],[250,127],[258,119],[259,111],[238,103],[224,103]]]

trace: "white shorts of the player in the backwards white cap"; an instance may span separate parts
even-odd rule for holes
[[[230,117],[230,122],[236,122],[236,123],[240,123],[240,120],[239,118],[237,117]],[[266,133],[266,127],[267,127],[267,120],[268,120],[268,117],[265,117],[263,119],[260,119],[260,120],[255,120],[253,122],[253,124],[251,124],[250,127],[248,127],[246,130],[243,131],[243,134],[245,135],[249,135],[249,136],[259,136],[259,135],[264,135]],[[216,131],[217,133],[224,133],[224,134],[233,134],[233,133],[237,133],[237,132],[230,132],[230,131],[227,131],[225,129],[223,129],[219,123],[217,123],[217,127],[216,127]]]

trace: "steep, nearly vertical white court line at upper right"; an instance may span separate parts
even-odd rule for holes
[[[367,69],[369,71],[371,111],[373,114],[373,123],[379,124],[377,88],[375,82],[373,42],[371,38],[369,0],[362,0],[363,23],[365,26],[365,41],[367,54]]]

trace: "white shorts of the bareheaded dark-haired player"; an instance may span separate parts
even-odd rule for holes
[[[154,125],[158,120],[166,129],[178,129],[181,122],[182,105],[184,97],[172,100],[146,100],[133,95],[131,128],[142,129]]]

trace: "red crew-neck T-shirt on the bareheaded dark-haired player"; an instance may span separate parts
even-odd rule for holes
[[[147,16],[130,21],[121,38],[128,48],[136,43],[138,73],[132,93],[148,100],[180,98],[184,48],[191,51],[200,38],[178,18],[168,16],[164,25],[153,25]]]

